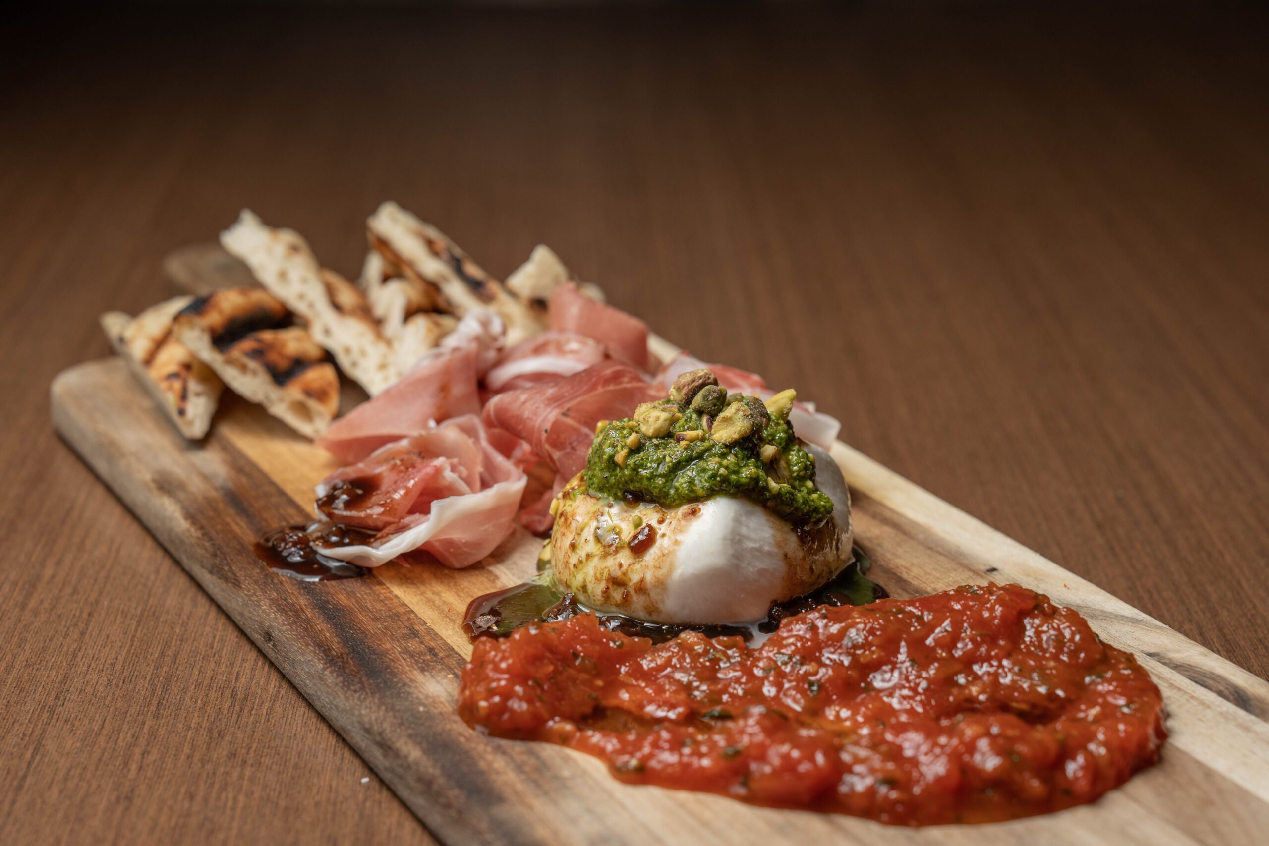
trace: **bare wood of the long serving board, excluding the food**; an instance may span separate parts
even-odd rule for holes
[[[656,351],[673,346],[656,339]],[[516,530],[464,571],[388,564],[305,583],[258,561],[266,530],[302,523],[326,453],[227,397],[185,443],[118,360],[52,384],[53,425],[256,646],[449,843],[1260,843],[1269,838],[1269,684],[839,443],[872,576],[905,597],[1019,582],[1076,608],[1164,691],[1162,762],[1093,805],[989,826],[923,830],[755,808],[609,778],[596,760],[483,737],[454,713],[471,646],[467,602],[534,572]],[[246,691],[250,695],[250,691]]]

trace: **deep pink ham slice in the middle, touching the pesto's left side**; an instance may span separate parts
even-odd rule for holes
[[[596,422],[628,417],[638,403],[664,396],[629,364],[608,359],[555,382],[500,393],[481,416],[572,478],[586,465]]]

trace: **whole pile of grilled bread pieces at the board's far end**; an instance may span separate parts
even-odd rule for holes
[[[371,250],[354,285],[322,268],[297,232],[244,211],[221,244],[263,289],[176,298],[136,321],[112,312],[102,325],[187,438],[207,434],[225,384],[316,438],[339,407],[327,351],[373,396],[476,309],[503,320],[509,345],[536,335],[551,292],[571,279],[558,256],[538,246],[504,287],[396,203],[369,217],[367,235]]]

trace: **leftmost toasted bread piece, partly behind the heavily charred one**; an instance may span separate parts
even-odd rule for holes
[[[107,312],[102,329],[176,430],[189,440],[201,440],[212,425],[225,383],[173,336],[173,320],[192,299],[174,297],[136,317]]]

